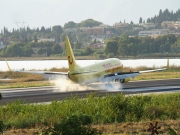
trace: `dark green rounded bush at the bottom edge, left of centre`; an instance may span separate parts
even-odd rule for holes
[[[88,115],[72,115],[62,119],[53,128],[42,132],[44,135],[101,135],[102,133],[91,127],[92,119]]]

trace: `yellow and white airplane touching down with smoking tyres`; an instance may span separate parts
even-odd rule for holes
[[[101,62],[94,63],[85,67],[81,67],[74,57],[71,44],[68,36],[65,37],[66,54],[68,59],[69,71],[68,72],[49,72],[49,71],[15,71],[34,74],[43,74],[45,77],[56,78],[59,76],[66,76],[75,83],[89,84],[94,82],[108,83],[116,81],[125,83],[130,81],[141,73],[162,71],[166,68],[145,70],[137,72],[123,72],[123,64],[117,58],[109,58]],[[7,61],[6,61],[7,62]],[[7,63],[8,65],[8,63]],[[8,65],[9,71],[12,71]]]

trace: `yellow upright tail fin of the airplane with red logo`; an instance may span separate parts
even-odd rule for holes
[[[66,36],[65,38],[66,38],[66,54],[68,57],[69,70],[70,71],[76,70],[80,66],[76,63],[68,36]]]

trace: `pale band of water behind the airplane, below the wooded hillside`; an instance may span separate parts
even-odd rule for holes
[[[81,66],[87,66],[101,60],[77,60]],[[167,65],[167,59],[130,59],[121,60],[124,67],[156,67],[160,68]],[[62,68],[68,67],[67,60],[29,60],[29,61],[8,61],[8,64],[13,70],[48,70],[53,67]],[[169,59],[169,65],[180,66],[180,59]],[[8,71],[6,61],[0,61],[0,71]]]

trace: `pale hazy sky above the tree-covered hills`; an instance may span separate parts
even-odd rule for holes
[[[0,0],[0,29],[64,26],[94,19],[104,24],[147,20],[159,10],[176,12],[180,0]]]

